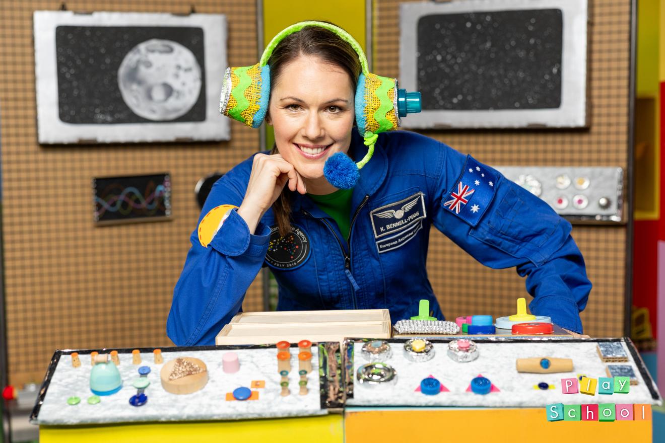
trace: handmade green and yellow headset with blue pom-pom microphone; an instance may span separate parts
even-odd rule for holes
[[[303,21],[289,26],[277,34],[266,46],[261,61],[253,66],[227,68],[221,88],[219,112],[251,128],[259,128],[268,110],[270,98],[270,66],[268,60],[275,46],[287,35],[307,26],[328,29],[346,41],[358,54],[362,72],[356,87],[355,114],[358,132],[368,146],[365,157],[354,163],[347,155],[338,152],[326,161],[323,173],[326,179],[337,188],[350,189],[360,177],[362,168],[374,153],[374,143],[380,132],[396,130],[400,118],[406,114],[420,112],[420,92],[406,92],[397,88],[397,80],[378,76],[369,72],[367,58],[355,41],[344,29],[320,21]]]

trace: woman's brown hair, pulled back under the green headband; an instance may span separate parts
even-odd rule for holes
[[[275,50],[268,60],[271,84],[277,83],[284,66],[303,55],[317,56],[325,63],[342,68],[350,76],[353,90],[356,90],[361,71],[358,54],[341,37],[328,29],[317,26],[304,27],[300,31],[288,35],[275,46]],[[277,144],[273,145],[271,155],[278,152]],[[288,186],[284,187],[273,203],[273,213],[279,227],[279,234],[285,236],[291,232],[291,190]]]

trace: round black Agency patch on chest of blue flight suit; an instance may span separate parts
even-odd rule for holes
[[[309,238],[299,226],[292,225],[286,236],[280,236],[279,228],[273,226],[265,262],[276,269],[295,269],[309,258],[310,250]]]

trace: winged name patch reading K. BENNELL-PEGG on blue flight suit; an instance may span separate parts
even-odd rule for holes
[[[415,193],[404,200],[388,203],[370,212],[374,238],[395,234],[426,217],[425,197]],[[378,243],[377,243],[378,244]]]

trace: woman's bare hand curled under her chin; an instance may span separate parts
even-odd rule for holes
[[[303,177],[279,154],[257,154],[251,167],[245,198],[238,208],[249,232],[254,233],[263,214],[275,203],[284,186],[289,183],[291,191],[307,193]]]

